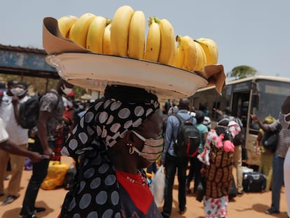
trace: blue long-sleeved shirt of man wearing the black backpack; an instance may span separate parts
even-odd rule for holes
[[[188,120],[188,118],[193,118],[193,124],[196,125],[196,119],[191,116],[187,110],[181,109],[177,112],[179,116],[184,118],[185,120]],[[165,130],[165,147],[163,150],[163,154],[161,156],[161,161],[165,161],[166,154],[170,154],[171,156],[177,156],[174,153],[174,141],[177,138],[177,134],[179,131],[179,119],[172,115],[168,116],[167,118],[167,125]]]

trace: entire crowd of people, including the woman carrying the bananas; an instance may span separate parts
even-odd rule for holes
[[[229,107],[215,109],[219,118],[213,128],[207,106],[190,108],[186,98],[179,102],[168,100],[162,108],[158,97],[142,88],[107,86],[101,99],[81,102],[74,99],[72,88],[73,85],[60,79],[55,88],[41,96],[38,123],[32,130],[22,128],[18,121],[20,104],[29,99],[28,85],[8,81],[7,90],[0,92],[0,196],[6,195],[2,205],[19,198],[25,157],[29,157],[34,162],[32,177],[20,217],[36,217],[36,213],[46,210],[35,203],[48,163],[60,160],[60,156],[71,156],[77,173],[59,217],[170,217],[176,175],[179,214],[186,214],[186,196],[195,195],[202,182],[205,217],[228,216],[233,167],[237,169],[237,195],[244,193],[244,142],[237,139],[244,127],[239,118],[231,115]],[[191,120],[200,132],[198,153],[191,158],[181,157],[174,151],[180,126],[176,114]],[[272,205],[265,213],[279,213],[283,183],[290,203],[290,161],[287,161],[290,97],[283,102],[277,119],[268,116],[259,121],[255,114],[250,116],[261,128],[256,139],[256,152],[261,155],[258,170],[267,178],[265,191],[272,191]],[[279,128],[277,149],[268,151],[263,147],[263,135]],[[34,145],[28,151],[31,135],[34,135]],[[8,161],[11,178],[4,193]],[[153,177],[160,165],[165,167],[161,212],[148,180],[148,174]]]

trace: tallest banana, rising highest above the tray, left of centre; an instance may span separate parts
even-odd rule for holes
[[[111,22],[111,53],[127,56],[129,28],[134,10],[130,6],[120,6]]]

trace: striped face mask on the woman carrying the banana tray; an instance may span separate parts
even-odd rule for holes
[[[133,147],[134,151],[139,154],[139,156],[146,159],[146,161],[154,163],[160,157],[163,151],[163,135],[160,135],[158,139],[146,139],[137,132],[134,132],[134,134],[137,135],[137,137],[139,137],[139,139],[144,142],[144,147],[141,151],[139,151],[136,147]]]

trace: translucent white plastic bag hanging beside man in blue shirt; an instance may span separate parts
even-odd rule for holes
[[[150,186],[156,205],[159,207],[164,200],[165,173],[163,165],[157,170]]]

